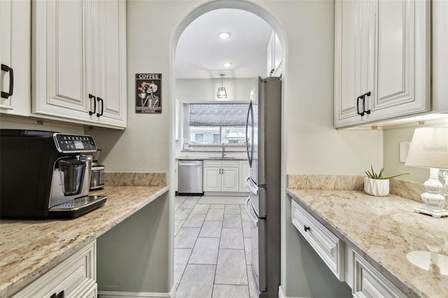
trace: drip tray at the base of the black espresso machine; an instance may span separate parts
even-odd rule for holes
[[[48,209],[50,218],[77,218],[106,203],[106,196],[85,196],[66,201]]]

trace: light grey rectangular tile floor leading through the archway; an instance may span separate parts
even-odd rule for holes
[[[177,298],[255,298],[243,197],[176,197]]]

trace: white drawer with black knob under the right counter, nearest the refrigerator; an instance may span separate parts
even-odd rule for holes
[[[293,225],[307,239],[339,281],[345,281],[344,242],[294,200],[291,200],[291,211]]]

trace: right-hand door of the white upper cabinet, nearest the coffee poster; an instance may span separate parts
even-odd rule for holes
[[[95,1],[97,23],[95,43],[98,44],[95,64],[99,71],[97,113],[99,122],[126,127],[126,2]]]

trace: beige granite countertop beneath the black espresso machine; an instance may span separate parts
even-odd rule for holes
[[[0,220],[0,297],[8,297],[169,190],[106,186],[104,206],[70,220]]]

